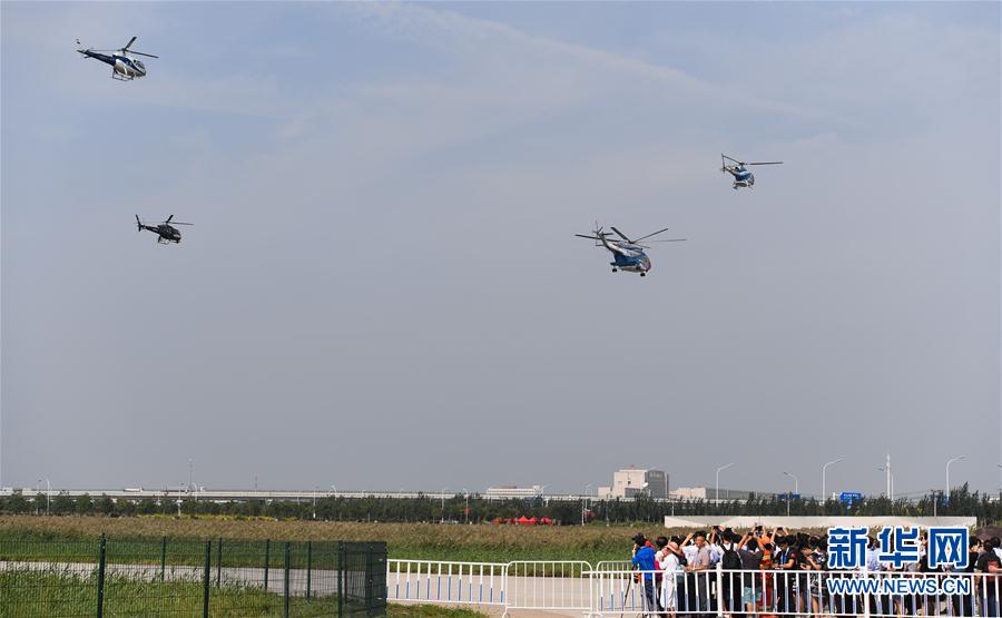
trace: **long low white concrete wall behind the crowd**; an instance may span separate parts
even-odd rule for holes
[[[978,526],[974,517],[782,517],[782,516],[688,516],[666,517],[666,528],[703,528],[714,526],[725,528],[753,528],[755,526],[772,528],[787,528],[790,530],[806,530],[811,528],[833,528],[836,526],[865,526],[867,528],[881,528],[882,526],[905,526],[929,528],[930,526],[964,526],[973,528]]]

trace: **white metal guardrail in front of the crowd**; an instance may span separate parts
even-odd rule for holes
[[[493,606],[504,616],[533,610],[589,618],[999,617],[1002,598],[1002,575],[967,572],[724,570],[720,565],[666,572],[618,568],[622,562],[591,568],[573,560],[389,563],[390,601]]]

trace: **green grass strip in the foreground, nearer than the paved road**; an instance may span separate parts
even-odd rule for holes
[[[33,618],[37,616],[94,616],[97,586],[94,576],[72,577],[58,571],[0,571],[0,616]],[[106,616],[200,616],[203,587],[197,581],[166,583],[108,577],[105,581]],[[279,594],[255,588],[213,588],[209,596],[213,616],[282,616],[284,598]],[[291,616],[336,616],[337,598],[289,599]],[[390,618],[479,618],[475,611],[434,606],[387,607]]]

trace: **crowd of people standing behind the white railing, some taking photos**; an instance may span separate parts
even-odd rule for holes
[[[725,616],[853,616],[868,606],[872,616],[980,616],[999,617],[1002,587],[1002,543],[998,537],[970,538],[967,566],[931,569],[927,536],[922,536],[920,559],[897,566],[882,560],[876,537],[867,538],[865,569],[876,577],[932,577],[927,573],[981,573],[970,595],[832,595],[826,579],[827,536],[772,532],[756,527],[744,533],[714,527],[708,533],[682,538],[633,537],[635,585],[641,591],[645,612],[662,618]],[[719,577],[717,570],[723,571]],[[863,568],[863,567],[861,567]],[[714,572],[705,572],[714,571]],[[926,575],[918,575],[926,573]],[[631,582],[631,585],[633,585]]]

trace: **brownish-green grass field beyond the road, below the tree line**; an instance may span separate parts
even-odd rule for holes
[[[0,542],[13,540],[244,539],[381,540],[391,558],[507,562],[510,560],[622,560],[637,532],[666,532],[639,526],[494,526],[365,523],[326,521],[235,521],[164,517],[0,517]],[[18,543],[42,547],[40,543]],[[47,546],[49,543],[46,543]],[[10,543],[7,543],[10,547]],[[55,551],[55,550],[53,550]],[[22,556],[18,556],[19,558]],[[52,556],[27,556],[39,559]]]

